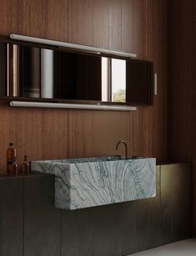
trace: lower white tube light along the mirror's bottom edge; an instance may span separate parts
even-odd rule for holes
[[[30,102],[30,101],[10,101],[12,107],[29,108],[57,108],[57,109],[78,109],[78,110],[118,110],[135,111],[136,107],[123,105],[85,105],[85,104],[67,104],[52,102]]]

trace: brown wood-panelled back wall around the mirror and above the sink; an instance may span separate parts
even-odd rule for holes
[[[167,159],[168,31],[165,0],[0,1],[0,34],[118,49],[153,60],[158,95],[136,112],[11,109],[0,105],[0,173],[10,141],[29,160],[107,156],[124,139],[128,153]],[[123,153],[123,149],[120,152]]]

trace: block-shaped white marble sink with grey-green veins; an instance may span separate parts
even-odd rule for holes
[[[155,158],[118,157],[33,161],[55,175],[55,207],[74,210],[156,196]]]

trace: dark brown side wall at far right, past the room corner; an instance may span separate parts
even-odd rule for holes
[[[193,162],[193,235],[196,235],[196,2],[170,5],[168,156]]]

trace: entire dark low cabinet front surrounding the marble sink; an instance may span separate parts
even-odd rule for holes
[[[122,256],[189,238],[190,183],[189,164],[157,166],[157,197],[67,211],[52,175],[0,177],[1,256]]]

